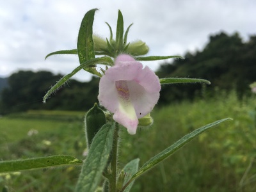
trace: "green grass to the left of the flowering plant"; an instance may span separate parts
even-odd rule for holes
[[[49,111],[48,118],[45,114],[43,119],[38,116],[27,118],[28,114],[0,118],[1,160],[56,154],[84,159],[86,144],[83,118],[77,120],[74,112],[69,113],[73,119],[52,118],[52,111]],[[29,136],[28,132],[31,130],[36,130],[37,133]],[[8,186],[9,191],[73,191],[79,172],[79,167],[71,166],[0,175],[0,189]]]

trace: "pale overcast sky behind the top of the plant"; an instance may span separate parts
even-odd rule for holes
[[[128,40],[141,39],[148,55],[184,55],[202,49],[209,35],[239,32],[243,40],[256,34],[255,0],[8,0],[0,1],[0,77],[17,70],[51,70],[68,74],[79,61],[76,55],[44,57],[53,51],[76,49],[84,14],[95,13],[94,33],[109,37],[115,30],[118,9],[124,26],[132,22]],[[115,33],[115,31],[114,31]],[[145,62],[153,70],[161,61]],[[90,79],[79,72],[76,79]]]

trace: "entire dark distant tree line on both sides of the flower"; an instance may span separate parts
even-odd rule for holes
[[[238,33],[218,33],[209,38],[202,51],[187,52],[184,60],[164,63],[156,72],[163,77],[193,77],[211,81],[207,92],[214,88],[236,90],[239,97],[250,92],[249,84],[256,81],[256,36],[243,42]],[[28,109],[82,110],[97,102],[99,78],[89,82],[70,80],[46,104],[42,97],[62,76],[51,72],[19,71],[8,78],[8,87],[0,93],[0,114]],[[201,84],[167,85],[161,90],[159,105],[173,100],[193,99],[202,92]]]

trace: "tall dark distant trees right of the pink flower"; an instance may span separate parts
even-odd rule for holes
[[[243,42],[238,33],[228,36],[218,33],[209,38],[202,51],[187,52],[184,60],[164,63],[156,74],[163,77],[191,77],[211,81],[205,88],[213,93],[214,89],[236,90],[239,97],[250,92],[249,84],[256,81],[256,36]],[[202,92],[201,84],[163,86],[159,104],[172,100],[193,99]],[[211,95],[211,94],[209,94]]]

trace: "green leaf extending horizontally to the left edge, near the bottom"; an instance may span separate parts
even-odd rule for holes
[[[71,156],[49,156],[13,161],[1,161],[0,173],[19,172],[38,168],[51,168],[55,166],[80,165],[83,161]]]

